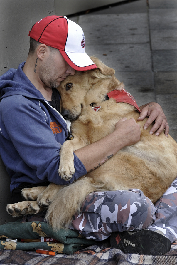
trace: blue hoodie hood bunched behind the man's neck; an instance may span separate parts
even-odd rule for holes
[[[41,92],[35,88],[25,73],[23,66],[25,62],[18,66],[18,69],[9,69],[1,76],[1,99],[11,95],[22,95],[28,98],[44,100]]]

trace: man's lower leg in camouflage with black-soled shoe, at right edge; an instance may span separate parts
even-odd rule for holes
[[[113,232],[111,246],[127,253],[165,254],[176,240],[176,180],[156,202],[156,220],[139,232]]]

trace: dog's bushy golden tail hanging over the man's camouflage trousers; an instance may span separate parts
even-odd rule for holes
[[[82,177],[78,181],[64,187],[55,196],[50,204],[45,221],[47,221],[56,231],[60,228],[67,227],[74,214],[80,213],[82,202],[90,192],[103,191],[103,183],[94,183],[92,178]]]

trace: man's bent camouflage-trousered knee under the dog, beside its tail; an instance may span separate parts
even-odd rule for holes
[[[71,229],[102,241],[112,232],[139,231],[155,221],[156,207],[139,189],[93,192],[75,214]]]

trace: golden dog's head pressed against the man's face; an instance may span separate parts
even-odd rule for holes
[[[57,88],[61,96],[60,113],[66,119],[76,120],[87,106],[100,105],[109,91],[119,89],[122,84],[115,78],[114,69],[98,58],[90,58],[97,69],[75,71],[73,76],[69,75]]]

